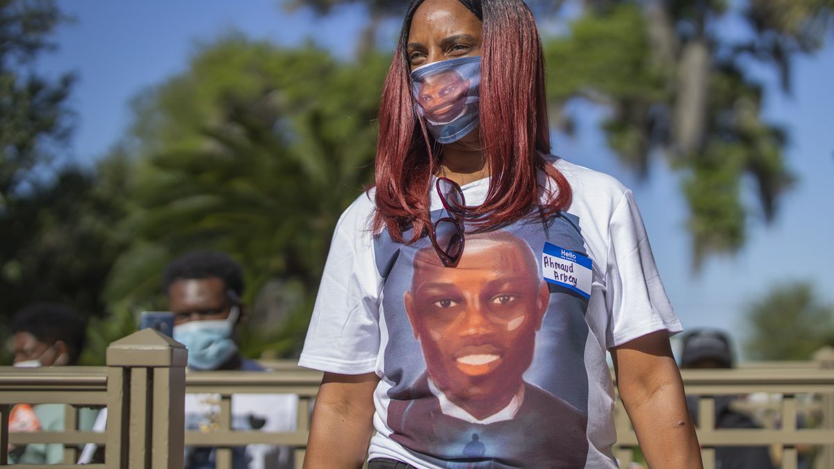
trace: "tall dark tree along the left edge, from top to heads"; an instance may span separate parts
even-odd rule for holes
[[[121,250],[125,161],[82,169],[62,159],[73,113],[73,77],[33,73],[62,21],[51,0],[0,0],[0,338],[34,301],[102,315],[103,285]]]

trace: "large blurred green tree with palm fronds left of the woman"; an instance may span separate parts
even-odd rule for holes
[[[111,303],[164,306],[158,282],[173,256],[222,250],[244,266],[250,305],[276,279],[279,297],[294,298],[275,306],[291,310],[284,329],[258,337],[264,328],[253,328],[247,351],[269,339],[292,353],[335,221],[371,182],[386,62],[339,63],[313,47],[230,37],[143,93],[127,144],[130,216],[119,227],[131,248],[111,276]]]

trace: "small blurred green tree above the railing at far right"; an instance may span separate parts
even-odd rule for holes
[[[834,305],[806,282],[779,285],[746,308],[747,354],[756,360],[809,360],[834,337]]]

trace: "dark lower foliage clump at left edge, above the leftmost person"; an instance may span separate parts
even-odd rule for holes
[[[103,285],[122,249],[110,229],[123,216],[117,194],[126,174],[113,166],[113,161],[103,162],[107,176],[63,169],[50,184],[7,206],[0,217],[5,317],[47,300],[73,306],[85,316],[103,312]]]

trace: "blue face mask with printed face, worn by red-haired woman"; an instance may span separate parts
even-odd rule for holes
[[[478,125],[480,56],[414,68],[411,83],[417,113],[441,144],[463,139]]]

